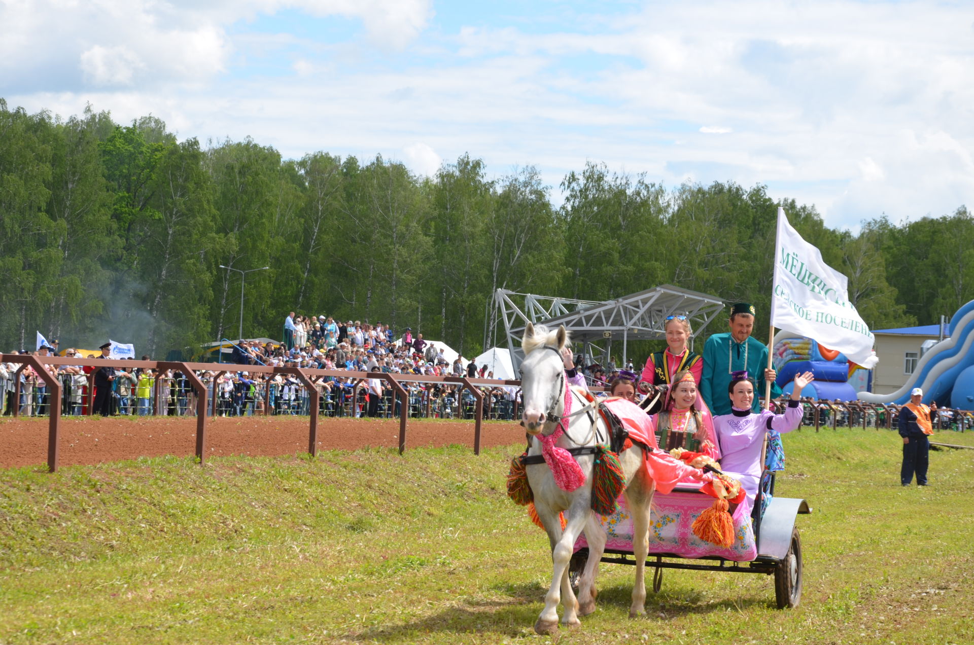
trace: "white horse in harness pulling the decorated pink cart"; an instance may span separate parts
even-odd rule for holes
[[[598,414],[590,414],[591,407],[566,387],[564,363],[561,350],[568,341],[564,326],[551,331],[542,325],[535,327],[528,323],[522,340],[525,359],[521,363],[521,389],[524,398],[522,421],[531,436],[528,455],[541,455],[542,443],[539,436],[550,436],[561,422],[564,434],[555,445],[562,448],[594,446],[607,442],[608,429]],[[565,397],[572,397],[570,417],[563,418]],[[581,413],[580,413],[581,412]],[[544,609],[535,631],[540,634],[553,633],[558,629],[559,601],[563,601],[564,615],[561,622],[565,626],[579,626],[579,616],[595,610],[595,576],[599,559],[605,550],[607,540],[605,529],[597,515],[592,512],[592,454],[575,455],[574,459],[585,475],[584,483],[572,492],[559,488],[547,464],[531,464],[526,467],[528,481],[534,492],[535,509],[548,534],[551,544],[553,571],[551,586],[544,595]],[[625,499],[632,513],[633,554],[636,558],[636,582],[632,588],[632,604],[629,617],[645,613],[646,604],[646,555],[649,551],[650,503],[653,500],[654,482],[643,466],[643,451],[639,446],[623,450],[618,455],[619,464],[625,474]],[[559,513],[564,512],[565,529],[561,528]],[[589,545],[588,562],[579,584],[579,598],[569,582],[568,565],[575,542],[582,529]]]

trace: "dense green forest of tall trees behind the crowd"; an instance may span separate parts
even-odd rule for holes
[[[552,187],[532,167],[488,176],[474,152],[417,176],[381,156],[282,159],[250,138],[178,140],[151,115],[62,118],[0,98],[0,350],[33,349],[35,329],[159,359],[235,338],[242,276],[221,265],[258,269],[244,336],[279,339],[295,311],[411,325],[465,356],[498,287],[604,300],[671,284],[767,312],[778,206],[871,328],[937,323],[974,298],[962,205],[864,213],[853,234],[763,185],[663,186],[589,162]]]

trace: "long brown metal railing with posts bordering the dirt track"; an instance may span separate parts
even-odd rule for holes
[[[9,416],[49,419],[48,466],[57,468],[62,416],[120,414],[196,417],[196,454],[206,458],[206,421],[213,416],[286,415],[308,417],[308,451],[317,454],[318,417],[399,419],[399,451],[405,450],[408,419],[470,420],[473,450],[479,454],[484,420],[512,421],[520,416],[519,381],[455,376],[351,372],[246,365],[242,371],[214,363],[164,360],[96,360],[0,355],[18,365],[0,379],[0,408]],[[110,382],[98,368],[118,369]],[[243,367],[243,365],[235,365]],[[603,388],[591,388],[604,392]],[[863,401],[802,399],[804,425],[822,427],[896,427],[900,406]],[[783,399],[772,401],[776,407]],[[974,411],[940,409],[934,428],[964,432]]]

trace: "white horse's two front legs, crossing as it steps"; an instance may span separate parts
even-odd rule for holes
[[[568,582],[568,563],[572,558],[572,550],[575,547],[575,540],[581,533],[584,526],[586,512],[577,512],[575,505],[568,513],[568,523],[565,530],[561,530],[561,523],[557,512],[550,512],[549,508],[542,509],[539,500],[535,498],[535,509],[538,516],[542,518],[548,540],[551,542],[551,586],[544,594],[544,609],[538,622],[535,623],[535,631],[539,634],[552,634],[558,630],[558,604],[565,596],[565,616],[562,620],[566,626],[579,625],[577,615],[578,600],[572,591],[572,586]],[[550,523],[549,523],[550,522]],[[551,526],[554,530],[547,527]],[[567,592],[566,592],[567,589]]]

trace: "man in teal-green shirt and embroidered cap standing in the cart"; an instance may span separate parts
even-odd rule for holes
[[[731,331],[712,335],[703,346],[700,396],[714,416],[731,414],[728,386],[731,384],[731,374],[736,371],[747,370],[757,380],[757,396],[752,407],[755,412],[761,409],[758,396],[764,396],[766,382],[771,384],[771,398],[781,396],[781,388],[774,383],[776,374],[773,369],[767,368],[768,347],[751,337],[754,314],[754,305],[735,303],[731,306]]]

